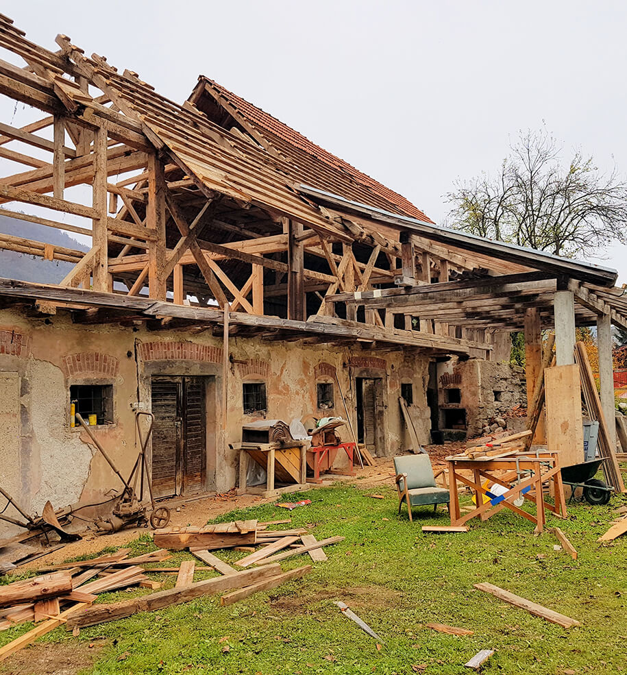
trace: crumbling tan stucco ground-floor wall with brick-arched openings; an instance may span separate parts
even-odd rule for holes
[[[27,511],[38,513],[47,500],[60,508],[79,501],[99,502],[110,489],[121,489],[119,478],[90,445],[86,432],[71,428],[69,388],[72,384],[113,386],[113,422],[92,430],[127,475],[139,451],[133,406],[149,409],[155,374],[199,375],[210,380],[212,424],[207,428],[206,488],[219,492],[236,484],[238,456],[229,443],[241,441],[243,424],[258,419],[243,410],[242,384],[247,381],[266,383],[268,419],[291,421],[304,415],[346,417],[337,378],[356,429],[356,378],[365,373],[381,378],[383,427],[378,454],[386,455],[409,447],[398,397],[401,384],[411,383],[410,415],[421,443],[429,442],[426,357],[238,336],[230,339],[229,349],[228,413],[223,429],[219,336],[209,331],[191,334],[154,332],[143,326],[80,325],[62,310],[47,319],[1,310],[0,383],[7,394],[0,408],[3,486],[14,490]],[[333,408],[317,408],[317,382],[333,383]],[[350,440],[349,428],[341,428],[340,435]],[[339,456],[338,463],[342,461]]]

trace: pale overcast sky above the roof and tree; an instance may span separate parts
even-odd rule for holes
[[[441,223],[458,178],[495,171],[545,123],[627,173],[627,3],[446,0],[4,0],[183,101],[203,73],[402,193]],[[627,282],[627,247],[602,265]]]

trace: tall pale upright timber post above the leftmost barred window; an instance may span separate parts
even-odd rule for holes
[[[55,127],[56,128],[56,127]],[[92,246],[97,249],[94,260],[94,291],[112,291],[108,274],[107,238],[107,127],[101,126],[94,138],[94,182],[92,187],[93,208],[97,217],[93,219]]]

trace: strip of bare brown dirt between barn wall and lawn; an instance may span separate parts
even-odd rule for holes
[[[458,452],[458,447],[463,447],[463,443],[446,443],[445,445],[428,445],[426,450],[432,458],[434,469],[443,465],[443,458],[450,454]],[[346,482],[355,482],[362,488],[376,488],[378,485],[394,484],[394,465],[391,457],[376,458],[376,465],[373,467],[356,467],[355,476],[340,476],[333,474],[325,478],[321,487],[325,484],[330,485],[337,480]],[[323,476],[324,477],[324,476]],[[317,485],[312,484],[312,489]],[[283,501],[289,501],[290,495],[285,495]],[[201,498],[176,498],[160,502],[169,506],[171,511],[171,526],[202,526],[208,520],[211,520],[222,513],[232,511],[234,508],[245,508],[247,506],[258,506],[275,502],[277,498],[264,499],[256,495],[236,495],[235,491],[223,495],[208,495]],[[286,516],[287,517],[287,516]],[[114,532],[110,535],[93,535],[88,532],[80,541],[66,544],[63,548],[49,553],[32,563],[23,565],[21,569],[45,567],[54,563],[62,563],[66,559],[78,558],[95,554],[107,546],[123,546],[125,543],[136,539],[145,528],[128,528],[121,532]]]

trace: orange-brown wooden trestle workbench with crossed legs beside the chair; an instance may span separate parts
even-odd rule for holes
[[[536,524],[536,531],[542,532],[546,523],[546,513],[560,518],[566,517],[566,501],[560,473],[558,453],[556,452],[524,452],[507,457],[471,459],[461,455],[446,458],[451,495],[451,525],[460,526],[467,521],[479,517],[487,520],[504,508]],[[460,471],[471,471],[472,479]],[[496,471],[519,471],[519,482],[506,482],[495,475]],[[494,495],[482,486],[484,480],[502,485],[507,489],[502,495]],[[461,515],[457,482],[463,482],[475,493],[476,508]],[[552,481],[554,486],[555,505],[544,500],[543,483]],[[487,495],[489,501],[484,503]],[[513,504],[513,500],[523,497],[535,505],[535,513],[528,513]]]

